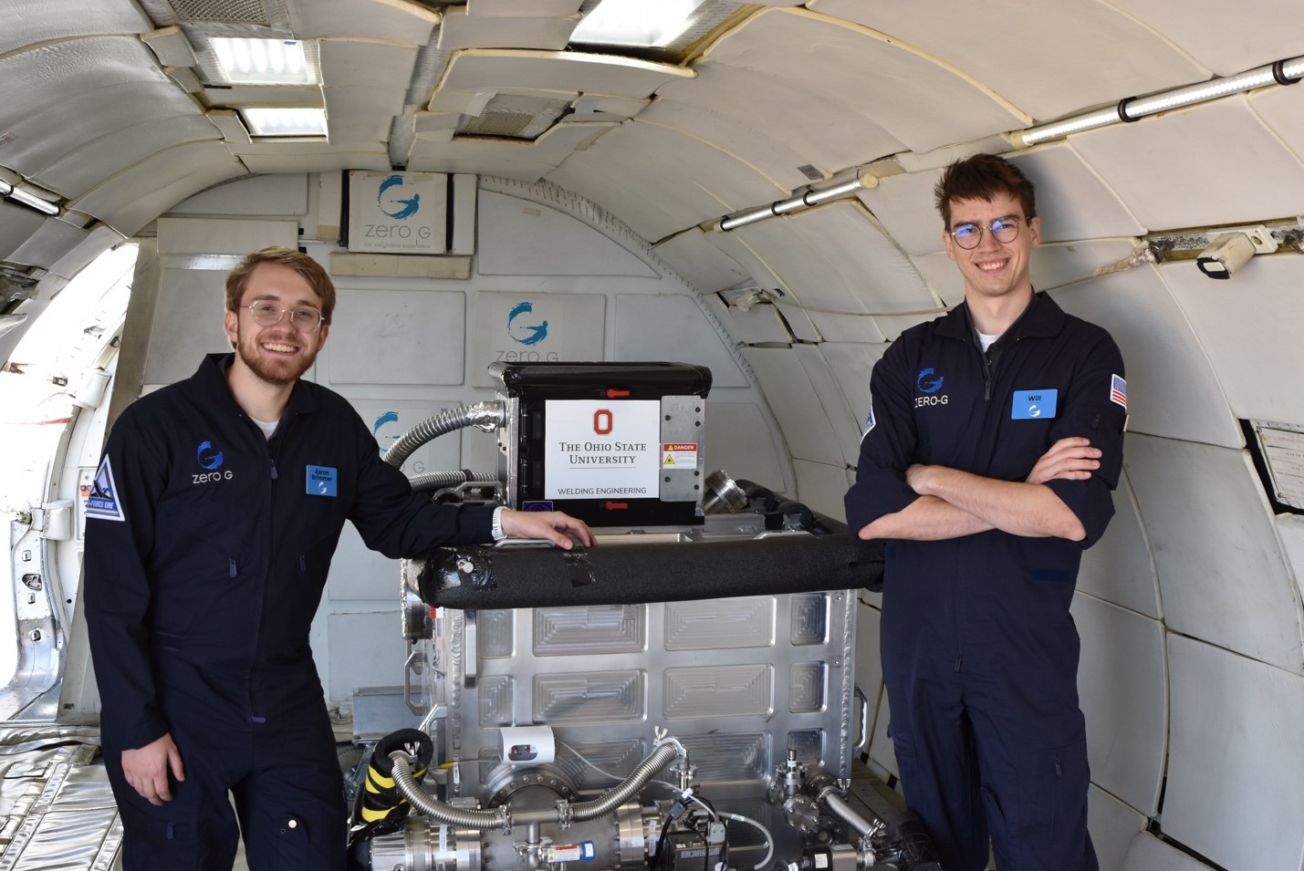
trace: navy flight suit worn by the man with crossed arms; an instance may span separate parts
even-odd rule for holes
[[[906,802],[947,871],[1094,871],[1089,772],[1069,615],[1084,548],[1114,514],[1127,382],[1108,332],[1034,295],[986,352],[968,306],[906,330],[870,379],[853,529],[918,495],[910,464],[1022,481],[1058,439],[1104,454],[1085,481],[1050,481],[1081,542],[998,529],[887,544],[882,656]]]

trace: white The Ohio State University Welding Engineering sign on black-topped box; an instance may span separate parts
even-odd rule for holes
[[[544,498],[657,498],[661,403],[549,399]]]

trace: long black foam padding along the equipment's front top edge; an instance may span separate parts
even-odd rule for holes
[[[412,562],[421,598],[439,608],[630,605],[876,585],[883,542],[792,535],[574,550],[472,545]]]

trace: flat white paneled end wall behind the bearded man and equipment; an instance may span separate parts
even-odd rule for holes
[[[316,203],[331,201],[319,196],[321,184],[304,173],[244,179],[194,196],[159,220],[146,385],[188,377],[202,352],[227,349],[222,282],[239,256],[266,244],[301,245],[330,265],[336,245],[299,235],[329,223],[329,215],[310,214]],[[335,322],[309,377],[349,399],[381,446],[429,415],[492,398],[481,370],[494,348],[526,348],[512,344],[506,317],[494,314],[510,299],[559,305],[549,332],[566,336],[562,347],[579,348],[579,359],[711,366],[707,465],[797,492],[782,436],[717,318],[716,297],[699,296],[632,229],[556,185],[482,180],[477,199],[469,279],[334,276]],[[846,468],[836,442],[831,458],[837,481],[824,486],[840,493]],[[496,465],[494,438],[464,430],[422,446],[404,471],[492,472]],[[333,705],[347,705],[357,686],[402,683],[396,578],[396,562],[366,550],[346,527],[312,630]]]

